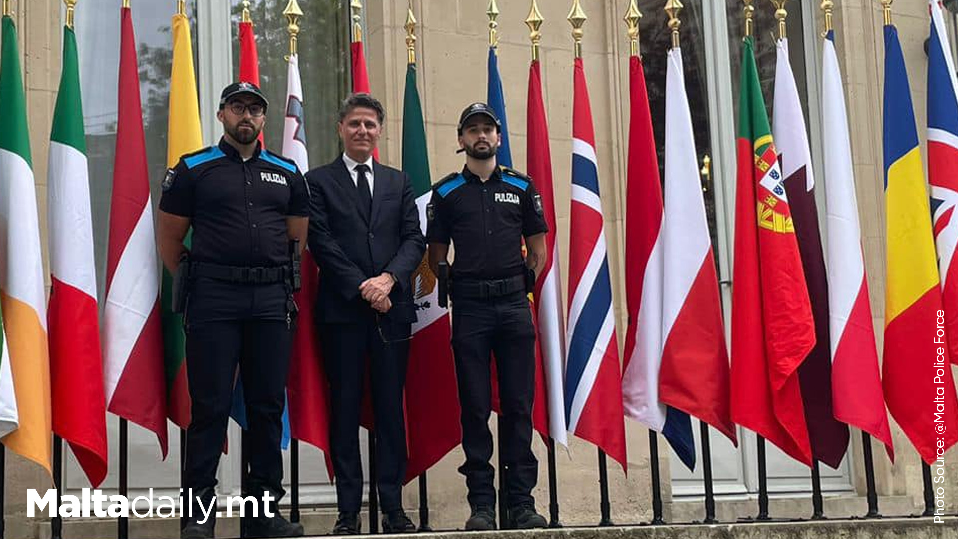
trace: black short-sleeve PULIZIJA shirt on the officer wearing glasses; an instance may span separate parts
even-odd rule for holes
[[[194,261],[282,266],[289,261],[286,218],[309,215],[309,192],[292,160],[258,147],[244,162],[220,139],[167,172],[160,209],[191,219]]]

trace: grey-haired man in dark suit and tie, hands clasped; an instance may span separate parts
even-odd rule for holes
[[[339,111],[345,152],[308,173],[309,251],[319,265],[316,318],[331,387],[332,464],[339,518],[333,533],[359,532],[359,410],[371,359],[376,484],[386,532],[415,527],[402,510],[406,437],[402,386],[412,322],[411,277],[425,240],[409,178],[373,159],[385,113],[369,94]]]

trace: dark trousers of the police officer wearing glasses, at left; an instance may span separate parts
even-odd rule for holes
[[[190,322],[186,357],[193,403],[186,434],[184,488],[195,491],[217,484],[217,464],[239,364],[249,423],[248,488],[282,495],[280,442],[292,335],[285,320]]]

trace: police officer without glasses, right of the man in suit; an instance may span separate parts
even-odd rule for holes
[[[460,116],[458,134],[466,166],[433,187],[426,240],[437,275],[449,242],[455,246],[449,294],[466,453],[459,471],[466,476],[471,508],[466,529],[495,528],[489,430],[493,353],[502,403],[499,435],[509,472],[509,499],[500,503],[508,507],[513,527],[544,527],[532,496],[538,471],[532,452],[536,332],[527,294],[546,261],[548,227],[530,178],[496,163],[501,124],[490,106],[469,105]]]

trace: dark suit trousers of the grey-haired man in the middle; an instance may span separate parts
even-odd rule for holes
[[[402,507],[406,475],[406,430],[402,387],[406,380],[410,324],[396,323],[372,311],[352,324],[322,324],[320,332],[331,393],[332,467],[340,511],[359,511],[362,462],[359,457],[359,412],[370,359],[376,426],[376,487],[383,511]]]

